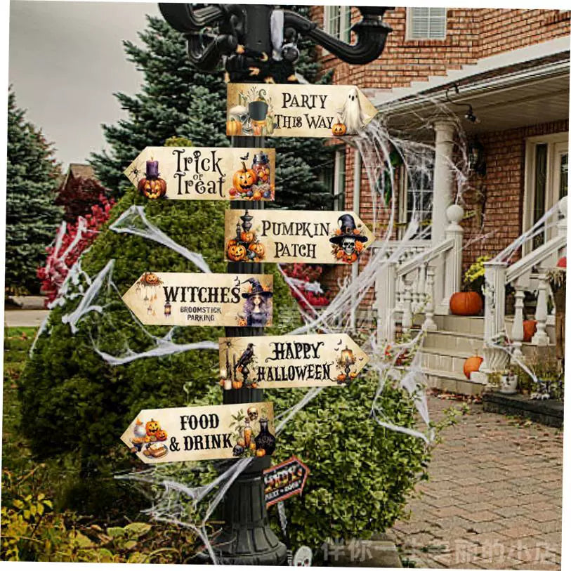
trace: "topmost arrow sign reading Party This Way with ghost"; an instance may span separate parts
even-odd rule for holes
[[[356,135],[376,115],[350,85],[228,84],[227,135],[342,137]]]

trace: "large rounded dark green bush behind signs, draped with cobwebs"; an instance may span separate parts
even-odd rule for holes
[[[132,190],[114,207],[110,224],[131,204],[145,204],[145,216],[151,223],[178,244],[202,253],[213,272],[225,272],[225,204],[150,202]],[[84,253],[81,268],[94,277],[112,258],[112,279],[121,295],[146,270],[198,271],[183,256],[157,242],[108,228]],[[265,273],[273,273],[275,289],[275,325],[267,332],[285,333],[299,323],[296,302],[275,265],[265,266]],[[86,287],[85,280],[81,281]],[[52,310],[46,332],[39,336],[25,366],[20,380],[22,430],[40,458],[72,451],[81,456],[84,468],[112,470],[118,459],[128,456],[119,436],[140,409],[184,405],[186,393],[198,397],[217,383],[218,352],[195,350],[112,367],[93,350],[94,345],[111,355],[122,355],[126,346],[141,352],[151,348],[152,341],[113,289],[103,289],[95,302],[105,304],[103,314],[89,313],[79,322],[79,331],[72,334],[61,318],[78,303],[79,298],[69,299]],[[159,336],[169,331],[169,327],[147,329]],[[223,333],[220,327],[181,327],[173,341],[217,341]],[[221,395],[219,399],[221,402]]]

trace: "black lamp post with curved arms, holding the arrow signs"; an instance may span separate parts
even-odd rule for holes
[[[214,71],[223,60],[230,81],[298,83],[296,42],[304,34],[339,59],[365,64],[381,55],[391,29],[383,22],[390,8],[360,7],[362,20],[351,28],[355,44],[336,39],[315,22],[295,12],[267,4],[159,4],[164,19],[188,42],[188,57],[198,70]],[[255,70],[255,74],[253,73]],[[262,148],[264,138],[232,137],[232,146]],[[232,209],[261,209],[261,202],[232,201]],[[228,263],[228,273],[262,273],[261,263]],[[226,327],[228,337],[263,335],[261,327]],[[224,390],[223,402],[260,402],[263,390]],[[265,509],[263,470],[270,458],[253,459],[228,490],[223,516],[225,527],[214,551],[226,565],[282,565],[286,546],[277,539]]]

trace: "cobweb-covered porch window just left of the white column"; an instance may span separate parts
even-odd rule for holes
[[[399,226],[400,236],[405,234],[412,216],[419,221],[416,237],[430,239],[430,224],[432,219],[434,155],[427,152],[421,157],[419,164],[402,166],[399,173]]]

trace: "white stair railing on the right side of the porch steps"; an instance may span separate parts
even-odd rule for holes
[[[535,320],[537,329],[532,337],[532,343],[537,346],[549,344],[546,326],[549,322],[548,298],[551,293],[547,268],[556,265],[560,256],[565,255],[567,244],[567,197],[560,199],[558,212],[562,216],[556,225],[556,236],[542,246],[534,249],[515,263],[493,260],[485,262],[485,313],[484,313],[484,361],[480,371],[489,374],[504,369],[510,360],[510,355],[497,347],[502,334],[507,334],[513,344],[512,359],[522,357],[523,343],[523,301],[525,291],[537,291]],[[546,220],[549,220],[546,217]],[[541,228],[540,228],[541,230]],[[529,234],[537,232],[532,228]],[[523,241],[517,240],[516,246]],[[506,250],[510,249],[508,247]],[[506,327],[506,284],[512,284],[515,289],[515,311],[510,331]]]

